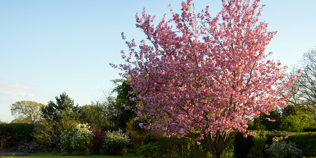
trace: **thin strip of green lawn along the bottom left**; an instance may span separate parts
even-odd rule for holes
[[[9,157],[2,157],[9,158]],[[10,157],[12,158],[12,157]],[[17,157],[17,158],[137,158],[134,154],[128,154],[123,156],[104,156],[104,155],[89,155],[89,156],[57,156],[51,153],[34,153],[26,157]]]

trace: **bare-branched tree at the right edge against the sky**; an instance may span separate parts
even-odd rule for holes
[[[293,67],[292,75],[298,70],[303,76],[294,82],[293,89],[297,91],[287,101],[303,109],[316,126],[316,47],[304,53],[299,65]]]

